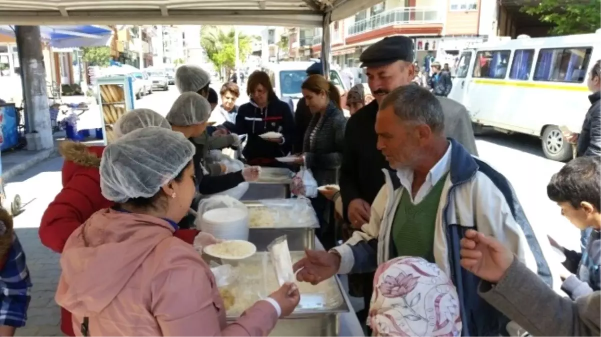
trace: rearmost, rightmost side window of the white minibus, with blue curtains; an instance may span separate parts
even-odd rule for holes
[[[593,48],[541,49],[538,52],[535,81],[582,83],[587,76]]]

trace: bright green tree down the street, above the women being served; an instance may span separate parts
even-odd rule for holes
[[[215,67],[233,69],[236,65],[236,31],[233,27],[219,28],[217,26],[203,26],[201,41],[207,57]],[[238,47],[240,59],[246,59],[252,52],[252,38],[239,32]]]

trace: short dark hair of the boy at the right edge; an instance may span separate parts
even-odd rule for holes
[[[601,210],[601,157],[579,157],[553,174],[547,185],[549,199],[568,202],[575,209],[585,201]]]

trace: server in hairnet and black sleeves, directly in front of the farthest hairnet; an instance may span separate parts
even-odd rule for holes
[[[258,179],[258,167],[246,167],[233,173],[219,176],[210,176],[207,168],[206,158],[209,157],[209,147],[195,142],[194,139],[201,137],[209,121],[209,102],[201,95],[194,92],[185,92],[175,100],[166,119],[174,131],[180,131],[195,146],[194,167],[197,175],[198,192],[201,194],[215,194],[234,188],[245,181]],[[210,165],[210,164],[209,164]],[[207,171],[205,171],[207,170]],[[212,170],[223,173],[225,170],[220,164],[214,164]]]

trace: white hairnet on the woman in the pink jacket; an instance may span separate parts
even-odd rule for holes
[[[102,153],[102,195],[117,203],[150,198],[190,163],[194,152],[182,133],[159,127],[134,130]]]

